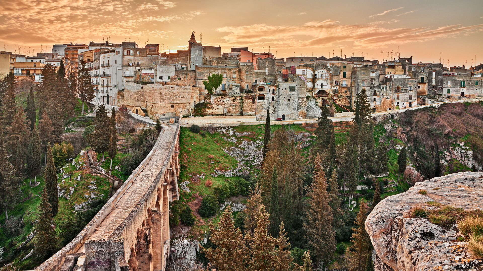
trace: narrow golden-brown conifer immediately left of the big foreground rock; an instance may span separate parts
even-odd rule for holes
[[[364,223],[367,218],[368,206],[362,202],[355,218],[356,228],[352,230],[351,247],[348,249],[349,271],[366,271],[371,265],[372,244]]]

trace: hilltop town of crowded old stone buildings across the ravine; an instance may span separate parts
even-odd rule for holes
[[[482,96],[483,65],[446,67],[412,57],[294,56],[275,58],[248,47],[205,46],[192,33],[187,50],[160,52],[136,42],[56,44],[52,53],[24,56],[0,52],[0,73],[40,82],[47,63],[76,72],[84,63],[94,100],[167,121],[182,116],[256,116],[264,120],[317,118],[320,107],[349,111],[363,89],[373,112]],[[384,54],[384,53],[383,53]],[[203,81],[222,75],[216,89]]]

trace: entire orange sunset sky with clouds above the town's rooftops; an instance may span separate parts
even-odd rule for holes
[[[416,62],[440,62],[441,53],[450,66],[471,66],[475,55],[483,63],[483,0],[0,0],[0,50],[20,54],[105,39],[182,50],[192,30],[222,52],[270,47],[277,57],[328,57],[342,50],[381,60],[399,47]]]

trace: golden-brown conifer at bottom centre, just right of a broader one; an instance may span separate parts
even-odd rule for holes
[[[251,258],[248,263],[248,270],[270,271],[276,259],[275,238],[269,233],[269,215],[262,207],[260,215],[256,220],[257,227],[253,237],[246,236],[248,240]]]

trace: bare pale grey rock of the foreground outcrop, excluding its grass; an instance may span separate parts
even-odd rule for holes
[[[375,271],[483,270],[483,260],[474,259],[467,243],[458,240],[456,225],[443,229],[426,218],[408,217],[412,207],[426,207],[427,202],[482,210],[483,172],[454,173],[416,183],[377,204],[366,220],[376,252]]]

